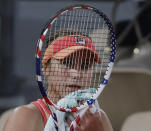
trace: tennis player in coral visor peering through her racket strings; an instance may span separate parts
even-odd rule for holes
[[[70,50],[62,43],[67,39],[72,39],[68,43]],[[85,46],[80,46],[81,44]],[[101,58],[89,37],[66,35],[52,40],[42,60],[48,95],[57,103],[69,92],[85,89],[91,84],[91,72],[95,63],[101,63]],[[43,131],[50,115],[45,101],[38,99],[14,109],[3,131]],[[75,117],[76,113],[72,113],[72,116]],[[66,123],[71,124],[70,118],[66,119]],[[113,129],[104,111],[92,112],[88,109],[76,130],[112,131]]]

